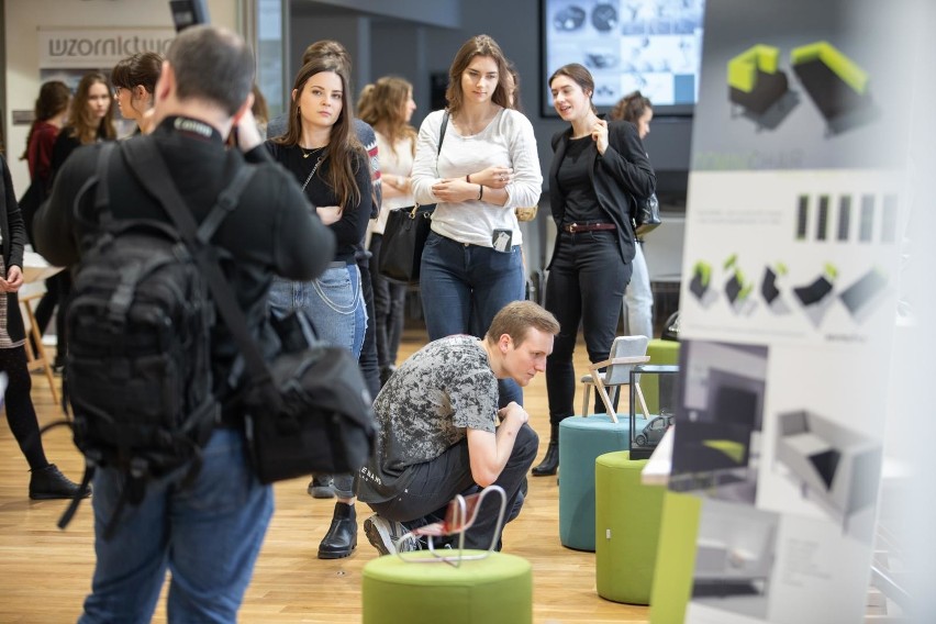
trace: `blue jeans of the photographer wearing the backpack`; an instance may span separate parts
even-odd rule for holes
[[[143,502],[124,508],[109,541],[103,532],[122,479],[98,469],[97,565],[79,623],[149,622],[167,569],[169,622],[236,622],[274,511],[272,488],[257,480],[244,444],[242,432],[216,430],[194,482],[180,488],[182,468],[147,483]]]

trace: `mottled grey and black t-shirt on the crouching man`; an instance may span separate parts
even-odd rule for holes
[[[468,428],[494,432],[498,380],[473,336],[448,336],[413,354],[374,402],[378,439],[360,470],[359,498],[392,499],[412,479],[411,467],[461,442]]]

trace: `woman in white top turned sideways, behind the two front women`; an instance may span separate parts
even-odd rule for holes
[[[403,333],[403,305],[406,286],[393,283],[380,275],[379,258],[387,215],[391,210],[413,205],[410,174],[416,153],[416,130],[410,119],[416,104],[413,86],[397,76],[385,76],[364,88],[358,100],[358,116],[369,123],[377,135],[383,203],[380,215],[370,222],[370,282],[374,287],[375,331],[381,386],[395,370],[397,353]]]

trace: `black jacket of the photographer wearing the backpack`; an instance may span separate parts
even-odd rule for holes
[[[199,129],[201,134],[190,129]],[[224,147],[221,135],[201,122],[182,118],[165,120],[151,136],[129,141],[154,141],[166,160],[179,193],[196,221],[201,222],[214,204],[229,168],[245,166],[239,152]],[[40,209],[34,229],[37,250],[57,266],[80,261],[81,239],[94,235],[91,225],[75,219],[73,205],[86,214],[93,205],[93,185],[100,145],[79,147],[56,174],[52,197]],[[272,163],[263,145],[246,155],[257,172],[244,191],[237,209],[214,235],[213,242],[226,252],[222,268],[252,334],[260,337],[268,355],[278,347],[267,321],[267,292],[272,276],[308,281],[325,270],[335,250],[328,229],[314,214],[290,176]],[[113,161],[108,172],[110,208],[116,219],[153,219],[171,222],[158,201],[149,197],[124,161]],[[220,319],[220,316],[219,316]],[[223,322],[212,333],[215,388],[231,374],[238,353],[234,337]]]

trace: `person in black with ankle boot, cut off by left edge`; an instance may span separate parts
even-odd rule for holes
[[[7,423],[30,465],[31,499],[70,499],[79,486],[58,471],[45,458],[38,431],[36,411],[30,398],[32,378],[26,367],[26,332],[20,313],[16,292],[23,286],[23,246],[26,229],[13,194],[13,181],[7,160],[0,156],[0,236],[3,256],[0,258],[0,372],[7,374]],[[86,492],[85,495],[91,492]]]

